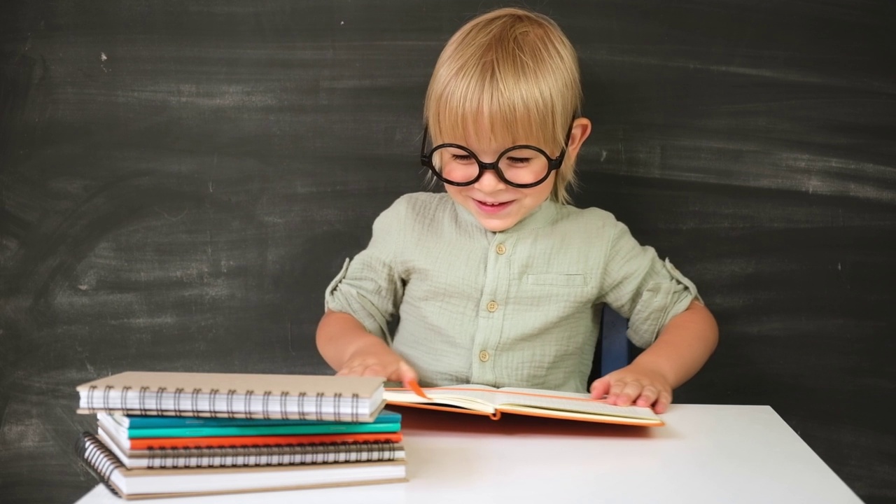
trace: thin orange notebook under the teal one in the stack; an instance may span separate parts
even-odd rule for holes
[[[157,448],[228,448],[271,447],[282,445],[314,445],[323,443],[401,442],[401,432],[371,434],[322,434],[320,436],[226,436],[220,438],[147,438],[118,439],[121,448],[145,450]]]

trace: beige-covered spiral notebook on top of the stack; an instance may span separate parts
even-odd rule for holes
[[[128,371],[77,387],[78,413],[374,421],[383,378]]]

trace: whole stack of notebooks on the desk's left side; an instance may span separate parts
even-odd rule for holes
[[[383,378],[127,372],[78,387],[82,458],[138,499],[405,481]]]

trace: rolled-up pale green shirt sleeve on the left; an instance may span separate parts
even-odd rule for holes
[[[401,275],[395,267],[395,249],[401,241],[400,202],[376,218],[367,248],[345,261],[327,286],[323,300],[327,309],[355,317],[367,332],[388,343],[389,321],[403,295]]]

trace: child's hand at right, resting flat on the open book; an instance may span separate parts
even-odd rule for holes
[[[666,413],[672,403],[672,386],[655,369],[639,366],[636,362],[617,369],[591,384],[591,397],[607,396],[607,404],[653,407],[656,413]]]

